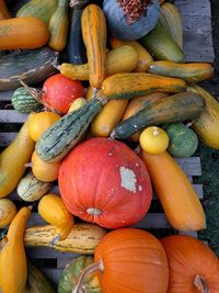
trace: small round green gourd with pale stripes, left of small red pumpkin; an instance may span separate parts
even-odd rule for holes
[[[31,112],[37,112],[43,109],[43,104],[39,103],[30,91],[24,88],[18,88],[11,98],[13,108],[24,114],[30,114]]]

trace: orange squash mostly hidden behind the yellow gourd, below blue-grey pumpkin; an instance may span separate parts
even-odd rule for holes
[[[153,57],[150,55],[150,53],[137,41],[124,41],[124,40],[116,38],[115,36],[112,36],[110,42],[113,48],[117,48],[124,45],[128,45],[135,48],[135,50],[138,54],[138,64],[135,69],[136,72],[147,71],[149,68],[149,65],[153,61]]]

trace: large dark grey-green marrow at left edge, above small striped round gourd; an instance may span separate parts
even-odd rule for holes
[[[0,58],[0,90],[16,89],[20,80],[33,84],[57,72],[57,53],[48,47],[11,53]]]

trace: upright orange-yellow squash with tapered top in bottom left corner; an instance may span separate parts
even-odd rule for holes
[[[26,255],[23,235],[31,215],[28,207],[22,207],[9,227],[0,253],[0,286],[2,293],[23,293],[27,279]]]

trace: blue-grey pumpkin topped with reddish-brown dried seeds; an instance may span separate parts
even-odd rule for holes
[[[147,35],[155,26],[160,4],[158,0],[104,0],[103,11],[112,35],[131,41]]]

